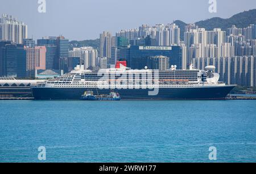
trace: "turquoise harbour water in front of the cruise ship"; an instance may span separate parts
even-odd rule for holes
[[[256,100],[0,101],[0,162],[256,162]]]

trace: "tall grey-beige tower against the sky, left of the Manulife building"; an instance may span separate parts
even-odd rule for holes
[[[112,34],[104,31],[100,34],[100,57],[111,57]]]

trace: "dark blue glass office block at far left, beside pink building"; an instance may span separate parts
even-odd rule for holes
[[[22,44],[7,44],[3,50],[3,77],[26,77],[26,50]]]

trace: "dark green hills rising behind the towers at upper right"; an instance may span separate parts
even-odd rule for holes
[[[183,33],[187,24],[180,20],[175,20],[174,23],[180,27],[180,38],[183,40]],[[207,30],[212,30],[213,28],[221,28],[223,31],[228,31],[228,28],[232,27],[232,25],[236,25],[238,28],[245,28],[250,26],[250,24],[256,24],[256,9],[240,12],[239,14],[236,14],[228,19],[211,18],[207,20],[201,20],[195,24],[200,28],[205,28]]]

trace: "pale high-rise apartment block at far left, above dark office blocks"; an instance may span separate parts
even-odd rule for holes
[[[12,15],[2,14],[0,19],[0,40],[22,44],[27,39],[27,25],[19,22]]]

